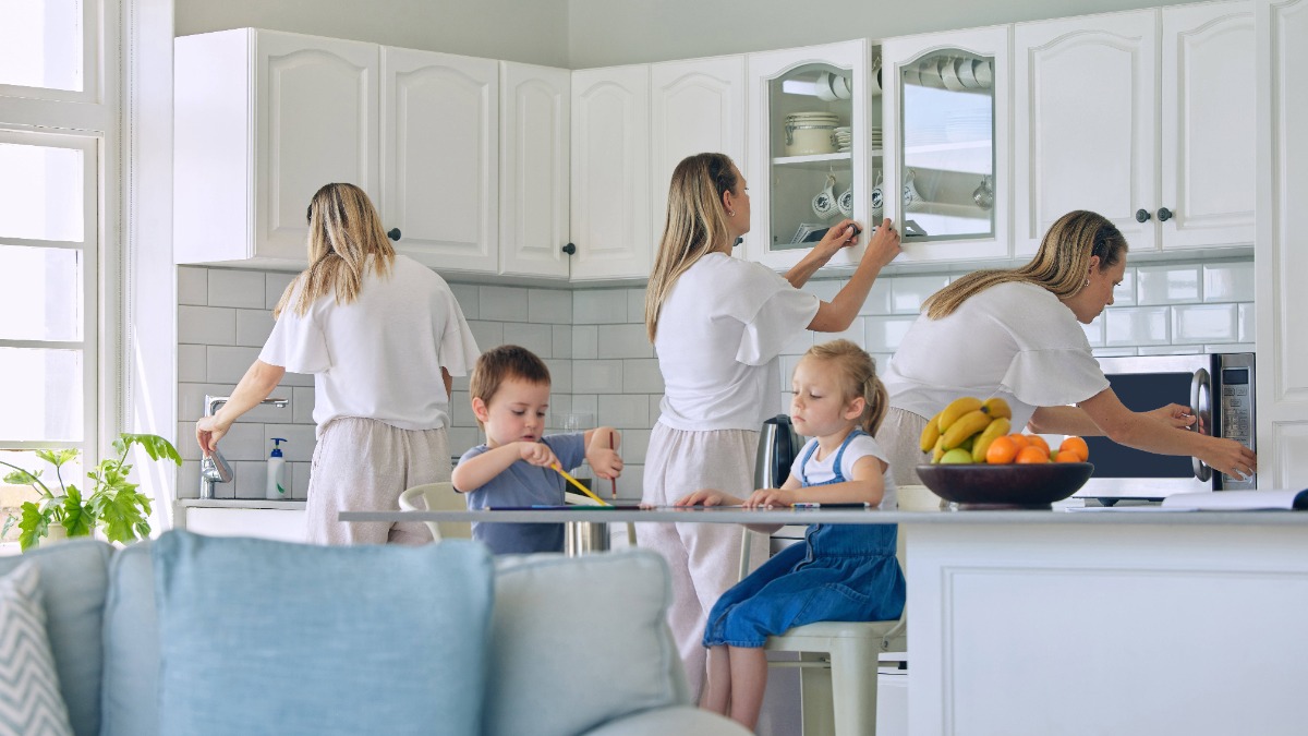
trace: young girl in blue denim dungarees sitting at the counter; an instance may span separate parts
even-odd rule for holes
[[[872,435],[886,415],[876,364],[849,340],[815,346],[795,367],[790,414],[812,437],[780,488],[748,499],[715,490],[679,506],[867,503],[895,508],[895,482]],[[791,545],[727,591],[709,613],[708,688],[701,705],[748,728],[759,720],[768,684],[768,636],[816,621],[887,621],[904,610],[904,574],[895,559],[893,524],[814,524]]]

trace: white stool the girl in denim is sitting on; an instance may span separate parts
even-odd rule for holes
[[[740,542],[740,578],[749,571],[749,536]],[[897,557],[904,564],[904,534]],[[769,636],[769,652],[795,652],[799,660],[769,661],[772,667],[798,667],[804,736],[875,736],[876,671],[882,652],[908,648],[905,621],[821,621],[795,626]]]

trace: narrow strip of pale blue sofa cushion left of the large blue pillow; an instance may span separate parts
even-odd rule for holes
[[[156,736],[160,729],[160,633],[150,542],[109,562],[101,736]]]

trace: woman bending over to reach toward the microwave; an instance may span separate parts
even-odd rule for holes
[[[1126,238],[1095,212],[1069,212],[1036,257],[976,271],[931,295],[886,372],[891,410],[876,435],[896,483],[920,483],[918,437],[929,416],[964,396],[1003,397],[1012,426],[1037,433],[1107,436],[1158,454],[1193,456],[1215,470],[1257,470],[1253,451],[1185,428],[1189,407],[1131,411],[1108,385],[1080,325],[1113,303]]]

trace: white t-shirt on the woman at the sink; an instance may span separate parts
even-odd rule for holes
[[[293,306],[283,309],[259,360],[314,373],[320,436],[340,416],[377,419],[400,430],[449,426],[450,397],[441,368],[464,376],[477,355],[445,279],[396,255],[385,280],[368,268],[352,304],[336,304],[328,295],[303,316]]]

